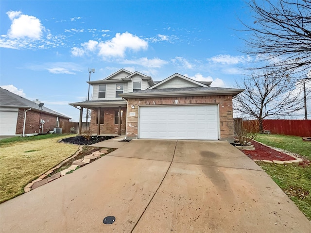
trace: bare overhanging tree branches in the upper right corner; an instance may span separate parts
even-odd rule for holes
[[[278,68],[311,79],[311,0],[250,0],[254,24],[246,25],[246,54],[262,62],[259,68]]]

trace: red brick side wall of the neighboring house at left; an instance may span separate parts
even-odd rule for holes
[[[16,134],[23,133],[25,110],[27,109],[18,109]],[[40,126],[42,127],[40,119],[45,121],[43,124],[43,133],[53,131],[54,128],[57,127],[57,116],[30,110],[27,111],[26,115],[25,133],[39,133],[39,131],[42,133],[42,129],[40,128]],[[59,121],[69,121],[69,119],[59,117]]]

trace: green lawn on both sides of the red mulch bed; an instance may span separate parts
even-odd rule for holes
[[[297,136],[276,134],[259,134],[256,140],[299,154],[306,160],[307,163],[298,166],[257,163],[311,220],[311,142],[304,142]]]

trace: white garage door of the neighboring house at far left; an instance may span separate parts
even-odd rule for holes
[[[17,111],[0,111],[0,136],[15,136]]]

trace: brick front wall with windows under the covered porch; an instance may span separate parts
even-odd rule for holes
[[[104,124],[101,124],[100,126],[100,134],[104,134],[104,133],[118,134],[119,125],[115,124],[115,111],[119,111],[119,107],[101,108],[101,109],[104,110]],[[121,110],[123,110],[121,134],[125,135],[126,108],[122,107]],[[97,111],[98,111],[98,108],[95,108],[94,110],[92,110],[92,114],[91,114],[90,128],[91,128],[92,133],[97,133],[97,127],[98,127],[98,125],[96,124]]]

